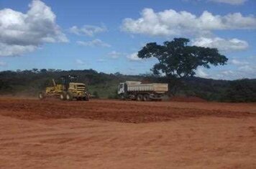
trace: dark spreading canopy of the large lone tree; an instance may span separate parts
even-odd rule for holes
[[[218,49],[188,46],[189,39],[175,38],[163,45],[148,43],[138,52],[140,58],[155,57],[159,63],[152,68],[154,74],[164,73],[166,77],[189,77],[196,74],[199,66],[210,68],[210,64],[224,65],[227,57]]]

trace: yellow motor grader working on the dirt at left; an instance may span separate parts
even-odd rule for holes
[[[78,83],[75,76],[60,77],[60,84],[55,83],[52,79],[52,86],[46,87],[44,92],[40,92],[40,100],[46,97],[59,97],[60,100],[89,100],[89,93],[86,91],[86,84]]]

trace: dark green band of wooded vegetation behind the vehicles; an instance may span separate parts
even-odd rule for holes
[[[119,73],[105,74],[93,69],[69,70],[32,69],[0,72],[0,95],[26,95],[37,97],[38,92],[51,84],[51,79],[58,80],[63,75],[76,75],[78,81],[88,85],[88,91],[99,98],[116,98],[116,87],[119,82],[138,80],[142,82],[170,82],[167,77],[155,74],[138,76]],[[177,84],[177,83],[176,83]],[[175,95],[201,97],[209,101],[221,102],[256,102],[256,79],[235,81],[186,77],[178,82]],[[170,91],[169,95],[171,95]]]

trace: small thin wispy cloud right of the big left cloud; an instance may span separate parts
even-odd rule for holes
[[[93,25],[84,25],[81,28],[78,26],[72,26],[70,28],[70,32],[77,35],[86,35],[88,37],[93,37],[95,34],[99,34],[101,32],[106,32],[106,26],[93,26]]]

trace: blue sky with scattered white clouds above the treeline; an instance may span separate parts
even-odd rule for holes
[[[256,0],[0,0],[0,71],[145,74],[157,60],[137,52],[177,37],[229,59],[197,77],[256,78]]]

